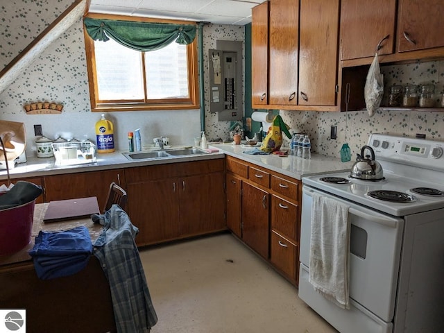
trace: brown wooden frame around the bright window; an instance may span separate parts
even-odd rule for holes
[[[130,17],[123,15],[103,15],[97,13],[89,13],[86,17],[94,19],[119,19],[123,21],[133,22],[153,22],[153,23],[170,23],[170,24],[195,24],[189,21],[176,21],[169,19],[151,19],[148,17]],[[110,111],[146,111],[146,110],[191,110],[198,109],[199,91],[198,91],[198,53],[197,53],[197,36],[191,44],[187,45],[187,67],[188,67],[188,99],[151,99],[148,101],[128,102],[128,101],[101,101],[99,100],[99,87],[97,85],[96,75],[96,58],[94,53],[94,40],[89,37],[85,27],[83,28],[85,35],[85,53],[87,60],[87,74],[89,86],[89,99],[92,112],[110,112]],[[145,57],[142,57],[145,63]],[[146,74],[142,72],[144,80]],[[146,92],[145,92],[146,95]]]

